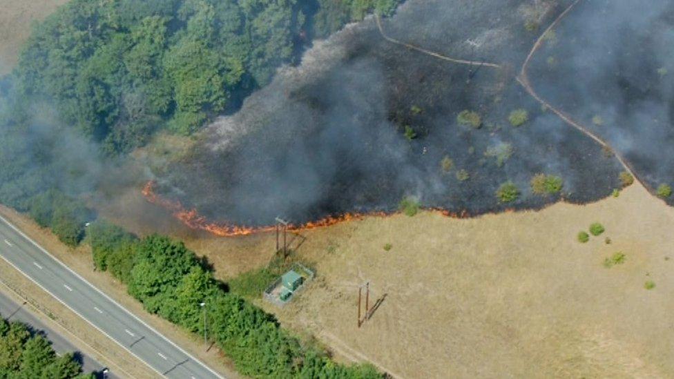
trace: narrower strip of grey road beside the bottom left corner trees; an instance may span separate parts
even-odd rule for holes
[[[77,347],[71,344],[68,338],[64,337],[63,333],[48,327],[44,322],[28,311],[26,307],[29,306],[17,303],[8,298],[4,293],[0,293],[0,314],[3,318],[9,318],[10,321],[21,321],[30,325],[32,329],[43,332],[44,336],[52,342],[54,350],[59,354],[77,352]],[[81,352],[80,357],[82,370],[85,373],[100,372],[104,369],[104,366],[99,362]],[[110,373],[109,377],[117,378],[113,373]]]

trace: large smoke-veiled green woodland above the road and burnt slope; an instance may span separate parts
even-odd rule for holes
[[[75,246],[95,218],[73,200],[102,174],[90,162],[157,130],[193,133],[297,63],[312,38],[399,2],[70,1],[0,78],[0,202]]]

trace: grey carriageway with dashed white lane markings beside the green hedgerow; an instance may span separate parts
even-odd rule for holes
[[[0,257],[166,378],[223,378],[0,217]]]

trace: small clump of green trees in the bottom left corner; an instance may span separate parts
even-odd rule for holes
[[[73,353],[57,356],[51,342],[22,322],[0,318],[0,378],[93,378]]]

